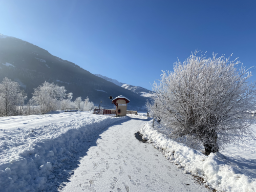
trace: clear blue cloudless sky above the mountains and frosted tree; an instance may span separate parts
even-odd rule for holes
[[[0,33],[147,89],[196,49],[256,66],[255,0],[0,0]]]

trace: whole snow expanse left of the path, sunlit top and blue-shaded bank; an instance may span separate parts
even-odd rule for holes
[[[1,192],[41,191],[59,185],[77,166],[79,150],[83,150],[79,155],[86,155],[105,127],[128,119],[57,113],[0,118]]]

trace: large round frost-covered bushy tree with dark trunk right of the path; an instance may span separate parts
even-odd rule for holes
[[[190,138],[204,145],[205,153],[219,151],[230,142],[254,137],[251,112],[256,111],[255,82],[240,61],[224,56],[190,55],[163,72],[153,84],[148,110],[170,130],[172,138]]]

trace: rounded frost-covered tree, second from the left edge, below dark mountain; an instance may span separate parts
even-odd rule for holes
[[[34,89],[31,102],[40,106],[42,114],[58,110],[60,101],[67,96],[66,91],[65,87],[45,81],[41,86]]]

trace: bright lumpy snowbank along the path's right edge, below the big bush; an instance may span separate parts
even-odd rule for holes
[[[256,180],[240,174],[235,167],[227,165],[219,153],[205,156],[185,144],[178,143],[152,128],[152,121],[145,123],[140,133],[143,139],[163,150],[166,159],[183,168],[185,174],[205,178],[205,185],[218,191],[256,191]]]

